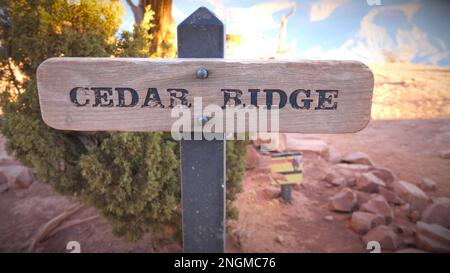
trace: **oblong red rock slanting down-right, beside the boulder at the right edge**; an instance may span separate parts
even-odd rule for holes
[[[429,204],[428,195],[419,187],[406,181],[393,183],[394,192],[405,202],[411,205],[412,210],[422,212]]]

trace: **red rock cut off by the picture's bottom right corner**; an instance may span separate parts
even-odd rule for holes
[[[450,230],[437,224],[417,222],[417,247],[430,252],[450,252]]]

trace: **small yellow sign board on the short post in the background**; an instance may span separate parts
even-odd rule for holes
[[[303,181],[303,159],[301,152],[271,155],[272,184],[299,185]]]

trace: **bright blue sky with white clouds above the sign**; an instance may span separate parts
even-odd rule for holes
[[[132,30],[132,12],[122,2],[121,29]],[[239,37],[227,58],[395,59],[450,67],[449,0],[173,0],[172,15],[179,24],[201,6]]]

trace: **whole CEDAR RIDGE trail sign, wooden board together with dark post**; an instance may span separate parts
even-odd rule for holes
[[[68,131],[168,132],[178,105],[194,108],[192,122],[208,122],[195,97],[219,109],[278,108],[278,132],[352,133],[369,122],[373,74],[364,64],[224,60],[224,35],[222,22],[199,8],[178,26],[179,59],[48,59],[37,70],[42,119]],[[202,133],[195,128],[183,130]],[[215,133],[223,139],[226,128]],[[185,252],[224,251],[225,152],[224,140],[181,141]]]

